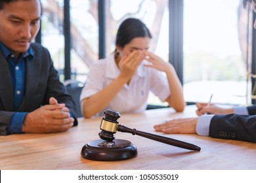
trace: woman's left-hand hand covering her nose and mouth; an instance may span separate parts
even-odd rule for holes
[[[123,56],[118,63],[120,75],[131,79],[143,59],[144,54],[141,50],[134,50],[129,55]]]

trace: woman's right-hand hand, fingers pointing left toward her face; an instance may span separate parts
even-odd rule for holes
[[[156,56],[155,54],[152,54],[151,52],[148,52],[148,50],[143,50],[144,53],[144,59],[149,61],[151,64],[145,64],[146,67],[152,67],[154,69],[157,69],[158,71],[166,72],[170,65],[166,61],[163,61],[160,57]]]

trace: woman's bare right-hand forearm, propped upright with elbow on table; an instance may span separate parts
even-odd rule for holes
[[[167,102],[177,112],[182,112],[186,104],[184,101],[181,82],[179,81],[179,78],[172,65],[169,65],[169,69],[165,73],[166,73],[167,80],[169,83],[169,88],[171,91],[171,98]]]

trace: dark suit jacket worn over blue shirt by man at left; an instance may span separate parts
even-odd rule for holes
[[[0,135],[7,135],[7,127],[15,112],[32,112],[49,104],[50,97],[55,97],[58,103],[65,103],[76,116],[75,103],[59,81],[49,51],[37,43],[31,46],[35,56],[32,61],[26,61],[25,95],[18,111],[14,111],[13,107],[14,94],[8,63],[0,50]],[[77,125],[76,119],[74,125]]]

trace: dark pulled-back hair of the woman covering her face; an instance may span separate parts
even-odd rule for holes
[[[137,18],[128,18],[124,20],[116,35],[116,46],[121,46],[123,48],[125,44],[128,44],[132,39],[136,37],[149,37],[152,35],[146,27],[146,25]]]

